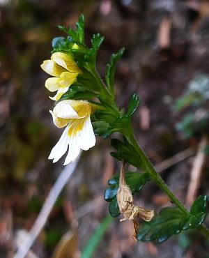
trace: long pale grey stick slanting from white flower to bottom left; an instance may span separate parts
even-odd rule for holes
[[[52,207],[54,206],[57,197],[59,196],[61,190],[63,190],[65,184],[70,179],[70,176],[72,176],[72,173],[75,171],[78,160],[79,157],[75,162],[70,163],[70,165],[66,166],[59,175],[59,178],[54,183],[54,186],[50,190],[49,195],[45,200],[45,204],[42,206],[38,218],[34,222],[33,227],[29,232],[28,238],[26,238],[24,243],[22,243],[13,258],[24,258],[27,252],[29,252],[31,245],[33,245],[33,242],[36,240],[38,234],[40,234],[41,229],[45,226],[49,213],[52,211]]]

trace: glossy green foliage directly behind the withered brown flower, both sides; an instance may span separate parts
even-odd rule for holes
[[[150,181],[150,176],[147,172],[141,174],[138,172],[126,172],[125,173],[125,182],[129,185],[132,194],[139,192],[141,188]],[[117,217],[120,215],[118,208],[118,202],[116,199],[118,186],[119,186],[119,175],[117,174],[108,181],[109,187],[104,192],[104,199],[109,204],[109,213],[112,217]]]

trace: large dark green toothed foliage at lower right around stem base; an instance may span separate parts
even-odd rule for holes
[[[188,214],[177,207],[166,207],[160,210],[150,222],[144,222],[139,227],[138,240],[157,241],[162,243],[174,234],[186,229],[196,229],[206,219],[207,197],[200,196],[192,205]]]

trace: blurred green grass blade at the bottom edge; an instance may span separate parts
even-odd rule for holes
[[[102,223],[95,230],[95,232],[89,239],[88,243],[84,247],[81,258],[93,257],[93,253],[95,252],[96,248],[98,247],[98,244],[100,243],[100,241],[102,241],[102,236],[104,236],[104,233],[107,231],[107,229],[111,225],[111,222],[112,222],[111,216],[107,215],[107,217],[104,218]]]

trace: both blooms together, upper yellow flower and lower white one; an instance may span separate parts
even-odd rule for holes
[[[52,100],[60,100],[61,96],[68,91],[69,87],[77,81],[77,75],[82,70],[77,66],[70,54],[54,52],[50,60],[41,65],[50,77],[45,86],[51,91],[57,91]],[[58,128],[65,127],[59,142],[52,149],[49,159],[58,161],[68,150],[64,165],[73,162],[79,155],[80,150],[88,150],[95,145],[95,135],[91,125],[93,105],[86,100],[61,100],[54,107],[52,114],[54,125]]]

